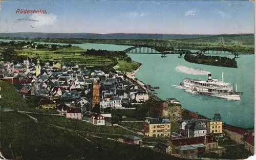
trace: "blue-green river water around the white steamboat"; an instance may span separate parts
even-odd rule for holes
[[[55,44],[64,45],[63,43]],[[92,43],[72,45],[82,49],[110,51],[123,51],[131,47]],[[183,58],[178,58],[178,55],[167,55],[166,58],[161,58],[157,54],[129,54],[129,56],[134,61],[142,63],[135,77],[146,84],[159,86],[159,98],[163,100],[176,98],[181,102],[183,108],[198,112],[208,118],[212,118],[214,113],[220,113],[223,121],[229,125],[243,128],[254,126],[254,55],[241,55],[240,58],[237,58],[238,68],[189,63]],[[223,72],[225,82],[237,84],[238,92],[243,92],[241,101],[227,101],[189,94],[172,86],[179,85],[184,78],[206,80],[208,72],[211,73],[212,78],[218,79],[222,78]]]

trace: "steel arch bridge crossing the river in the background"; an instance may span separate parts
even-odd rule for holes
[[[166,54],[179,54],[180,57],[184,54],[195,54],[195,55],[234,55],[235,58],[238,58],[239,55],[251,55],[254,53],[240,53],[233,51],[228,48],[223,47],[211,47],[211,48],[204,48],[200,51],[189,51],[189,50],[172,50],[166,51],[164,48],[152,47],[150,45],[137,45],[126,49],[123,51],[124,53],[129,54],[162,54],[162,56],[166,57]]]

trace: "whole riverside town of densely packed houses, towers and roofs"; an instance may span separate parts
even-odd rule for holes
[[[34,109],[56,111],[60,117],[99,127],[119,126],[134,133],[109,137],[120,143],[186,158],[228,157],[241,148],[250,155],[254,150],[253,130],[225,124],[221,113],[208,119],[190,112],[176,98],[163,101],[134,73],[104,73],[50,61],[41,65],[39,58],[36,63],[29,58],[23,63],[2,62],[0,68],[1,81],[11,83]]]

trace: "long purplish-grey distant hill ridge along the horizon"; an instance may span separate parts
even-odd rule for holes
[[[19,32],[19,33],[0,33],[0,39],[9,37],[22,38],[65,38],[65,39],[186,39],[209,37],[213,35],[193,35],[193,34],[143,34],[143,33],[111,33],[111,34],[94,34],[94,33],[33,33],[33,32]],[[16,38],[14,38],[16,39]]]

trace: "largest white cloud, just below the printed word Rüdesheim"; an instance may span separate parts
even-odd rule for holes
[[[44,26],[44,25],[53,25],[57,16],[54,14],[33,14],[30,16],[31,19],[35,19],[37,21],[34,22],[34,26]]]

